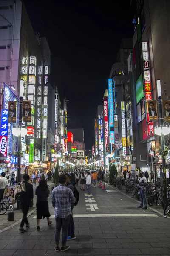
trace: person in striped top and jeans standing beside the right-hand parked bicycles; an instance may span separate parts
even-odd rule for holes
[[[142,172],[139,172],[139,192],[141,197],[141,204],[138,206],[138,208],[142,208],[143,210],[147,210],[147,200],[146,200],[146,185],[147,185],[147,179],[144,177]],[[144,207],[143,207],[143,201],[144,201]]]

